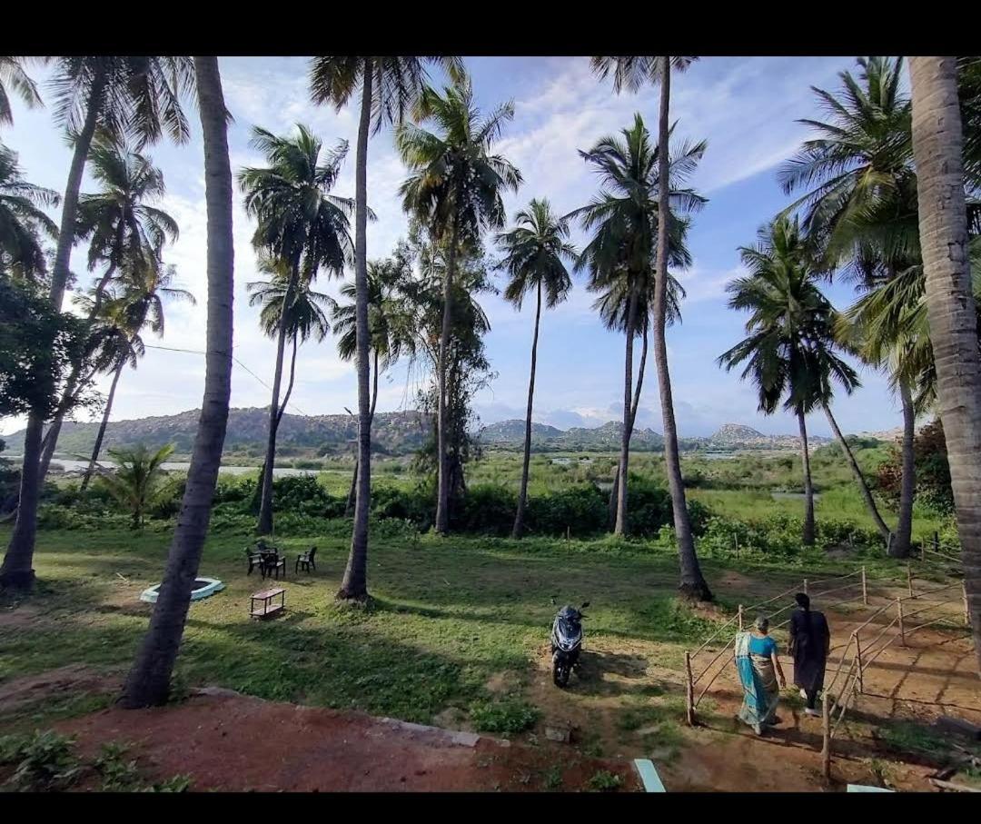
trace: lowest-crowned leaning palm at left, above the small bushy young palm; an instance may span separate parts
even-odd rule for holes
[[[129,364],[132,369],[135,369],[137,360],[145,351],[139,333],[146,328],[154,335],[163,337],[165,300],[186,301],[191,304],[196,302],[194,295],[189,291],[171,285],[175,277],[174,267],[162,266],[159,255],[154,253],[144,258],[141,265],[129,269],[122,293],[118,297],[111,297],[102,306],[101,311],[106,316],[108,325],[118,330],[119,334],[115,336],[114,341],[115,357],[109,359],[113,364],[113,380],[109,386],[106,405],[102,410],[102,421],[92,446],[92,456],[81,479],[82,491],[88,488],[98,463],[102,441],[109,425],[109,414],[116,397],[116,387],[119,385],[123,368]],[[94,299],[92,302],[94,303]]]

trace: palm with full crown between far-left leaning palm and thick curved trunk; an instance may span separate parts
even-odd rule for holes
[[[164,176],[151,158],[136,151],[125,138],[96,131],[88,168],[99,183],[95,194],[78,199],[76,235],[88,240],[88,269],[102,267],[101,277],[88,305],[89,324],[99,315],[106,289],[121,269],[152,266],[165,243],[178,239],[179,228],[163,209],[152,205],[167,191]],[[66,410],[72,405],[81,364],[77,364],[65,388],[62,405],[44,436],[38,475],[43,483],[58,445]]]

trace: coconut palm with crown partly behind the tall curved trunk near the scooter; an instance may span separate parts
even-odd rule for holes
[[[617,535],[625,535],[627,532],[634,337],[644,328],[639,321],[644,309],[641,296],[648,293],[650,271],[655,269],[656,237],[661,214],[658,190],[660,147],[651,146],[649,132],[640,114],[635,115],[633,127],[623,129],[621,135],[602,137],[592,149],[580,152],[600,176],[601,188],[589,205],[572,213],[580,218],[585,231],[594,232],[593,238],[580,255],[577,268],[589,269],[592,290],[616,292],[617,288],[623,288],[627,298],[622,318],[626,333],[626,355],[624,422],[614,527]],[[666,223],[673,224],[671,234],[674,242],[670,244],[668,254],[671,265],[679,268],[691,263],[691,256],[683,243],[687,224],[681,216],[686,212],[697,211],[705,203],[701,195],[694,189],[683,188],[682,183],[695,171],[704,150],[704,141],[694,144],[685,142],[669,163],[668,202],[671,211],[667,212],[670,220]],[[656,303],[656,287],[654,298]],[[614,305],[609,306],[608,317],[616,325],[619,321]],[[703,594],[697,583],[693,586]]]

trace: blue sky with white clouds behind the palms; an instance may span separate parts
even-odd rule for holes
[[[322,138],[325,146],[347,140],[350,151],[334,193],[354,194],[354,146],[357,109],[310,102],[308,60],[302,57],[221,58],[226,103],[234,123],[229,133],[232,174],[243,166],[263,164],[249,146],[250,130],[261,126],[279,134],[302,123]],[[658,91],[647,88],[615,95],[610,82],[592,75],[586,57],[468,57],[475,96],[483,111],[513,100],[515,116],[505,128],[497,151],[521,171],[524,183],[508,193],[508,216],[533,197],[547,198],[564,214],[589,202],[598,181],[580,157],[602,136],[632,125],[635,113],[656,130]],[[682,273],[688,291],[683,323],[667,333],[678,431],[682,437],[706,436],[725,423],[749,425],[768,434],[796,433],[797,422],[784,412],[766,417],[756,409],[751,386],[739,373],[720,370],[715,359],[744,336],[746,316],[726,307],[725,286],[743,274],[738,247],[751,245],[757,229],[784,208],[790,198],[777,182],[776,170],[788,159],[808,129],[797,121],[820,118],[811,86],[835,89],[838,73],[851,69],[844,57],[705,57],[672,81],[671,117],[679,138],[706,139],[707,150],[691,180],[708,198],[695,216],[690,232],[693,265]],[[47,99],[45,71],[34,70]],[[443,78],[433,76],[435,83]],[[203,350],[207,284],[205,277],[205,202],[202,146],[196,111],[188,106],[192,137],[175,146],[162,142],[147,150],[162,170],[167,193],[158,205],[181,227],[178,241],[165,260],[176,265],[178,285],[199,298],[197,305],[167,306],[165,333],[145,342],[177,349]],[[63,190],[71,160],[65,137],[53,120],[51,107],[28,110],[14,100],[14,126],[0,131],[0,140],[17,151],[26,179]],[[384,257],[406,232],[397,187],[406,172],[394,150],[390,129],[372,137],[368,149],[368,199],[378,216],[368,227],[369,259]],[[86,175],[82,191],[95,186]],[[250,245],[254,224],[235,192],[234,203],[234,356],[232,406],[266,406],[270,400],[275,342],[259,330],[258,308],[248,305],[246,283],[257,280]],[[580,248],[586,237],[578,227],[573,242]],[[491,244],[488,244],[492,251]],[[85,248],[73,254],[73,271],[87,286],[96,273],[85,270]],[[347,273],[353,278],[353,273]],[[570,298],[542,312],[534,420],[560,429],[598,426],[622,418],[624,338],[604,331],[592,309],[594,295],[586,290],[585,274],[574,277]],[[503,286],[503,276],[497,276]],[[339,282],[321,276],[318,288],[337,296]],[[852,289],[833,283],[826,293],[844,308]],[[502,297],[482,296],[491,331],[487,354],[497,374],[491,386],[475,399],[482,424],[523,418],[527,403],[534,302],[517,312]],[[636,358],[635,358],[636,363]],[[856,365],[857,366],[857,365]],[[900,407],[886,379],[859,368],[862,386],[851,397],[839,392],[834,408],[846,432],[889,430],[902,423]],[[396,365],[383,377],[378,410],[412,408],[418,376]],[[109,379],[98,388],[105,393]],[[169,415],[200,407],[204,384],[201,354],[148,348],[136,370],[127,369],[120,382],[111,420]],[[340,360],[336,341],[308,342],[297,358],[297,379],[288,412],[344,413],[356,408],[353,363]],[[95,415],[80,413],[78,420]],[[23,426],[18,419],[0,420],[0,432]],[[638,426],[661,431],[656,373],[648,358]],[[816,435],[830,435],[823,414],[808,419]]]

